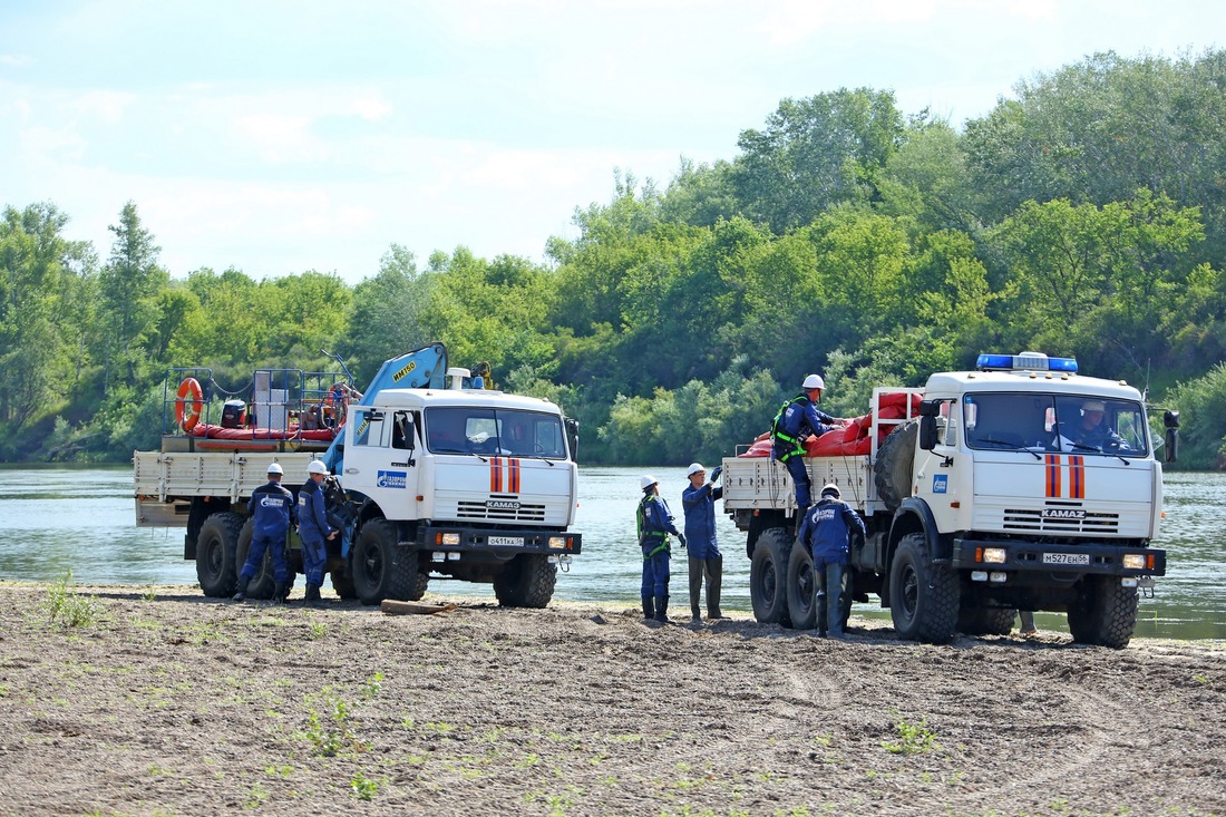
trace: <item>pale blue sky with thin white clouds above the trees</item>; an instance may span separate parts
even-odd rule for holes
[[[960,126],[1095,52],[1208,48],[1220,0],[0,0],[0,204],[54,202],[105,259],[132,200],[175,277],[542,260],[615,168],[731,159],[785,97]]]

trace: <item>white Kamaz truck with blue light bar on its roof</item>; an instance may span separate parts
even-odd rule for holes
[[[883,420],[886,395],[900,393],[905,410]],[[1068,615],[1075,642],[1128,644],[1139,591],[1166,572],[1166,552],[1150,547],[1162,516],[1159,443],[1137,389],[1025,352],[982,355],[976,370],[933,374],[922,390],[877,389],[873,402],[867,453],[805,460],[814,494],[840,486],[868,530],[851,543],[843,616],[874,593],[907,639],[1007,634],[1015,611],[1047,610]],[[1173,460],[1178,412],[1165,426]],[[723,460],[754,615],[812,627],[792,482],[758,448]]]

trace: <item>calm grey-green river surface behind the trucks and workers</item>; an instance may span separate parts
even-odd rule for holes
[[[642,471],[584,467],[575,529],[584,552],[558,577],[554,597],[635,604],[641,557],[634,512]],[[652,470],[661,494],[682,519],[683,469]],[[1155,542],[1167,550],[1167,575],[1156,596],[1143,599],[1138,637],[1226,640],[1226,474],[1168,474],[1166,519]],[[718,514],[725,554],[723,606],[748,611],[749,559],[744,535]],[[673,559],[672,606],[680,613],[684,561]],[[54,580],[66,572],[80,584],[183,584],[196,581],[183,558],[183,529],[137,529],[128,466],[0,466],[0,579]],[[299,586],[302,581],[299,579]],[[488,585],[432,579],[430,589],[493,596]],[[889,618],[873,596],[855,615]],[[1064,616],[1038,613],[1040,629],[1067,631]]]

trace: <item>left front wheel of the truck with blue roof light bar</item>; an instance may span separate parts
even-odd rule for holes
[[[907,534],[890,564],[890,617],[900,638],[944,644],[958,624],[958,575],[928,561],[923,534]]]

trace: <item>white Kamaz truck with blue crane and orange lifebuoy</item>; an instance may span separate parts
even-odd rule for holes
[[[322,458],[335,474],[327,513],[342,532],[327,543],[327,569],[342,599],[412,601],[436,575],[492,583],[506,606],[546,606],[559,566],[581,550],[570,530],[577,424],[552,402],[472,388],[466,369],[447,370],[445,388],[445,366],[441,345],[417,350],[386,362],[364,396],[327,382],[310,388],[319,373],[257,372],[254,383],[262,375],[275,388],[245,411],[223,412],[235,420],[217,427],[199,383],[174,396],[168,386],[166,413],[173,407],[177,426],[162,450],[132,460],[136,524],[186,527],[184,558],[196,562],[201,590],[228,596],[250,548],[251,491],[268,465],[281,464],[295,491],[308,462]],[[282,416],[270,428],[248,427],[246,415]],[[306,417],[315,428],[304,428]],[[320,418],[335,424],[318,433]],[[300,572],[293,531],[288,546]],[[266,557],[248,596],[270,597],[272,588]]]

